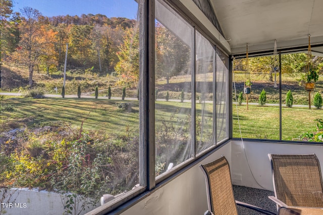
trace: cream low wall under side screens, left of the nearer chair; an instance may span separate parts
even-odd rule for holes
[[[207,210],[207,200],[205,179],[199,165],[216,160],[221,155],[224,155],[230,163],[230,142],[122,214],[203,214]]]

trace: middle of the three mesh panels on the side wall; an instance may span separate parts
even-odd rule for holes
[[[215,47],[196,32],[196,153],[214,145]]]

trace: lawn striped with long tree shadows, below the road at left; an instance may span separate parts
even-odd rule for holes
[[[116,106],[119,100],[99,99],[62,99],[62,98],[10,98],[2,105],[11,105],[14,111],[2,112],[2,123],[15,121],[27,127],[51,125],[56,122],[70,123],[89,130],[104,130],[111,134],[125,132],[126,127],[138,129],[138,101],[130,103],[130,108],[120,110]],[[5,126],[3,126],[5,127]]]

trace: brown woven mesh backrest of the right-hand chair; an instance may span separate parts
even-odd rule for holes
[[[269,154],[268,157],[279,200],[288,206],[323,207],[322,175],[315,154]]]

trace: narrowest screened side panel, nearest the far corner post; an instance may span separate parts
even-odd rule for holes
[[[216,72],[216,126],[217,142],[228,138],[228,74],[229,57],[217,49],[217,72]]]

